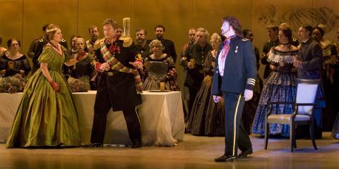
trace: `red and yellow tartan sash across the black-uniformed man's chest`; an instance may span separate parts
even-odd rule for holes
[[[138,73],[138,70],[133,68],[127,68],[125,65],[120,63],[117,58],[115,58],[111,52],[107,49],[105,42],[100,43],[100,51],[102,54],[102,58],[104,58],[105,62],[111,66],[112,70],[117,70],[122,73],[132,73],[134,75],[134,80],[136,80],[136,94],[141,94],[143,91],[143,82],[141,81],[141,77]]]

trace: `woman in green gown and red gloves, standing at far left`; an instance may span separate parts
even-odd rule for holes
[[[39,57],[35,72],[23,92],[7,148],[35,146],[80,146],[78,115],[61,68],[65,49],[59,44],[61,30],[51,24],[49,41]]]

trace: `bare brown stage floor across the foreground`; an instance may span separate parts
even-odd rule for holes
[[[215,163],[224,149],[223,137],[196,137],[185,134],[177,146],[70,148],[70,149],[6,149],[0,144],[0,168],[338,168],[339,140],[330,132],[316,140],[314,150],[309,139],[298,139],[295,152],[290,152],[288,139],[272,138],[268,150],[263,138],[251,136],[254,154],[237,162]]]

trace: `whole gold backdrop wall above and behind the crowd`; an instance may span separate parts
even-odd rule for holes
[[[330,30],[326,37],[336,41],[339,25],[339,1],[334,0],[1,0],[0,34],[4,37],[2,46],[11,37],[23,42],[23,54],[27,54],[32,39],[41,35],[42,25],[60,25],[64,39],[69,42],[71,35],[89,38],[88,27],[97,25],[103,37],[102,22],[113,18],[119,25],[122,18],[131,18],[131,36],[143,27],[148,39],[154,39],[155,25],[166,27],[165,38],[171,39],[180,56],[181,47],[187,42],[190,27],[205,27],[210,35],[220,32],[221,19],[227,15],[236,16],[243,28],[254,32],[254,45],[262,50],[268,40],[266,26],[271,23],[290,22],[297,37],[299,23],[316,24],[321,18],[310,13],[325,13]],[[302,14],[303,17],[297,17]],[[320,14],[319,14],[320,15]],[[178,82],[182,86],[182,67],[177,61]],[[263,66],[259,73],[263,71]]]

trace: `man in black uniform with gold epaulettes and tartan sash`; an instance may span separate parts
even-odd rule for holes
[[[93,128],[86,147],[102,146],[105,137],[107,113],[122,111],[126,120],[132,148],[141,147],[141,125],[136,106],[142,103],[142,82],[138,68],[143,67],[141,55],[129,37],[117,37],[117,23],[107,19],[103,23],[104,39],[94,45],[92,64],[100,73],[95,97]],[[139,56],[139,57],[138,57]]]

